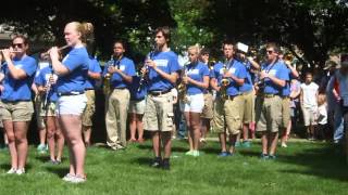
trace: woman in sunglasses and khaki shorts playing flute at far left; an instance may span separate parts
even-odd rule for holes
[[[30,87],[37,67],[36,61],[26,54],[28,42],[24,36],[12,40],[12,50],[2,50],[4,80],[1,88],[0,113],[9,139],[11,169],[8,173],[25,173],[28,152],[27,130],[34,106]],[[1,60],[0,60],[1,61]]]

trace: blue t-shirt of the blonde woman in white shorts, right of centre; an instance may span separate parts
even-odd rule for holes
[[[206,64],[198,62],[197,64],[189,64],[185,67],[187,76],[196,81],[203,82],[203,77],[209,76],[209,68]],[[203,93],[204,89],[195,84],[187,84],[187,94],[194,95]]]

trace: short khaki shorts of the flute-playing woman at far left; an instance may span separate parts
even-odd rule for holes
[[[34,113],[32,101],[0,102],[2,120],[30,121]]]

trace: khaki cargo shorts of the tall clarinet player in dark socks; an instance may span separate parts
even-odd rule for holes
[[[174,125],[172,101],[172,93],[158,96],[148,94],[144,114],[144,129],[147,131],[172,131]]]

